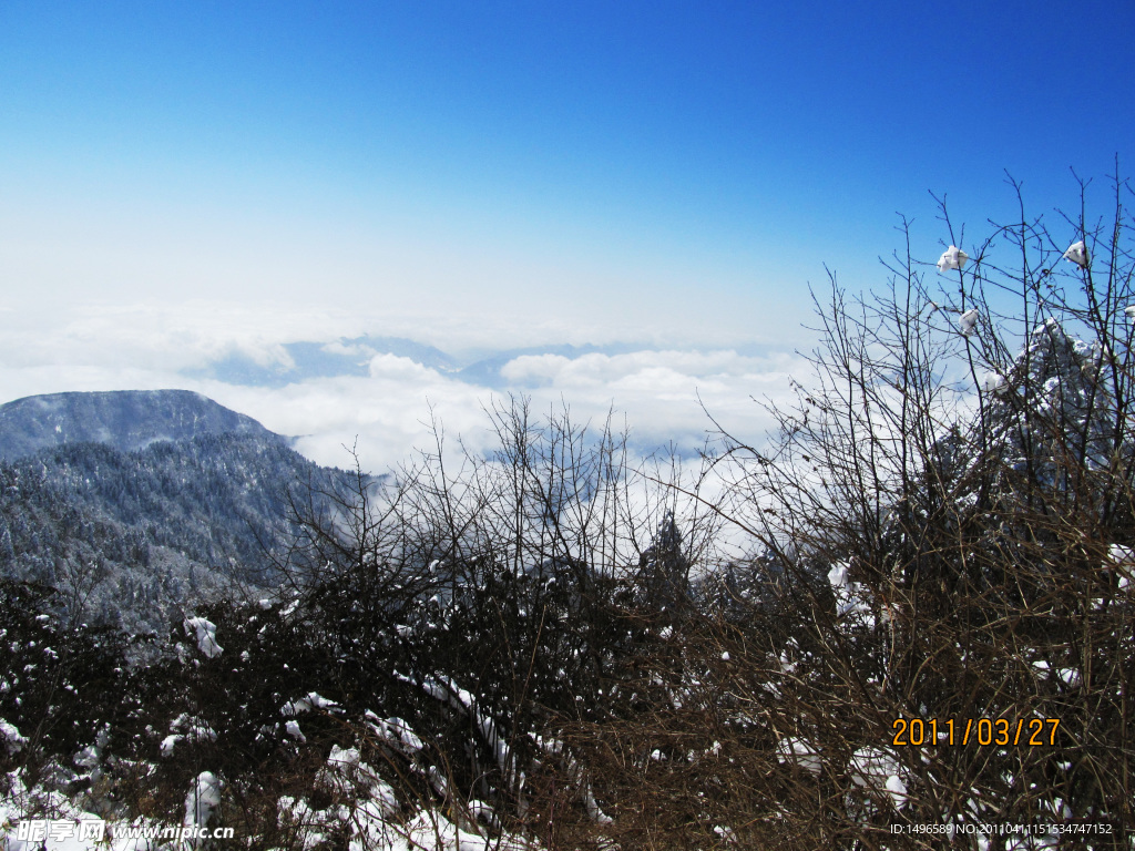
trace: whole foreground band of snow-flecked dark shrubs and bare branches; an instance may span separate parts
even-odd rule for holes
[[[0,836],[1135,848],[1135,199],[1081,188],[976,241],[943,203],[936,259],[903,222],[874,290],[833,273],[771,435],[707,411],[700,458],[641,460],[505,399],[488,455],[436,423],[390,477],[308,475],[286,546],[157,633],[6,574]]]

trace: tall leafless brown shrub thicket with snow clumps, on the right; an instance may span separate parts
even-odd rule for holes
[[[901,831],[952,824],[976,848],[965,825],[1079,819],[1126,848],[1135,256],[1128,186],[1095,225],[1081,188],[1084,212],[1022,203],[961,269],[927,272],[903,221],[885,289],[832,275],[779,432],[707,457],[730,482],[707,507],[755,555],[703,584],[676,655],[659,641],[620,682],[638,702],[568,734],[599,833],[923,848],[942,840]]]

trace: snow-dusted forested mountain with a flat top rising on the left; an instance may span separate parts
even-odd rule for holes
[[[0,576],[51,585],[68,615],[133,632],[165,632],[234,583],[274,587],[292,500],[347,483],[184,390],[20,399],[0,408]]]

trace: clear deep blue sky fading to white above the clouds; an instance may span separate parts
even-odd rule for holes
[[[791,351],[897,211],[936,259],[928,191],[976,233],[1004,169],[1048,211],[1129,161],[1133,36],[1126,1],[7,0],[2,306]]]

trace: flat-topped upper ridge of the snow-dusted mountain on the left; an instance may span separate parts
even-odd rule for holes
[[[0,405],[2,461],[65,444],[96,443],[135,452],[160,440],[205,435],[249,435],[287,443],[251,416],[192,390],[54,393]]]

